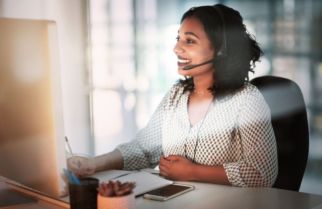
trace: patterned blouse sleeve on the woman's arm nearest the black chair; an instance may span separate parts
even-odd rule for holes
[[[278,172],[276,140],[270,109],[257,89],[245,98],[237,122],[240,161],[223,165],[230,183],[272,186]]]

